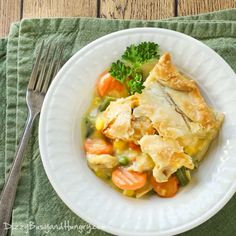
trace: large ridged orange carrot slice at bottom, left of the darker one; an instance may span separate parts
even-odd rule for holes
[[[136,190],[145,185],[147,174],[128,171],[125,168],[118,167],[112,172],[112,181],[120,189]]]

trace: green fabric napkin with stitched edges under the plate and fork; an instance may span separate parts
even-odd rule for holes
[[[43,39],[62,42],[68,59],[103,35],[133,27],[161,27],[191,35],[213,48],[236,71],[236,9],[162,21],[55,18],[15,23],[8,39],[0,40],[0,188],[27,116],[25,93],[36,46]],[[71,212],[53,190],[40,159],[37,128],[36,122],[22,166],[10,234],[108,235]],[[210,220],[181,235],[234,235],[235,222],[236,196]]]

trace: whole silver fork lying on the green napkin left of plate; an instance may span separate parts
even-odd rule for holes
[[[59,56],[56,59],[57,46],[51,50],[51,44],[46,50],[46,55],[43,57],[44,41],[42,42],[39,53],[33,67],[30,81],[26,93],[26,102],[28,106],[28,117],[25,125],[25,130],[19,143],[15,159],[11,166],[7,181],[3,187],[0,196],[0,235],[7,234],[8,224],[10,224],[12,208],[15,201],[16,189],[20,179],[21,163],[27,142],[30,137],[33,122],[41,111],[44,97],[49,88],[51,80],[60,68],[62,48],[59,49]],[[49,54],[52,51],[52,58]]]

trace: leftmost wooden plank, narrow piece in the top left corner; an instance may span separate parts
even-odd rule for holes
[[[0,0],[0,37],[7,36],[11,23],[20,20],[20,5],[19,0]]]

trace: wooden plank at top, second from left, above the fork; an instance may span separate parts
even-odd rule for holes
[[[97,16],[97,0],[24,0],[23,17]]]

